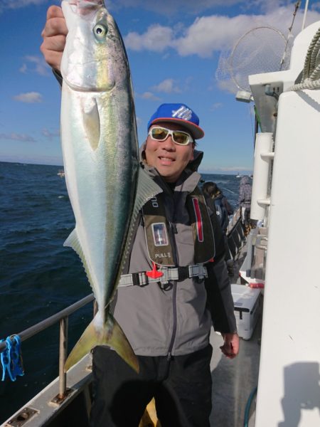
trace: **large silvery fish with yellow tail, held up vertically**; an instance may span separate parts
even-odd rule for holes
[[[139,371],[110,302],[139,211],[159,187],[139,164],[132,79],[117,23],[103,0],[63,0],[61,6],[68,27],[60,66],[61,144],[75,216],[64,246],[78,253],[98,309],[64,370],[96,345],[107,345]]]

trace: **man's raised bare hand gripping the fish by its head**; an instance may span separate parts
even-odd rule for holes
[[[46,26],[41,33],[43,43],[40,50],[50,67],[58,71],[60,71],[67,34],[68,28],[62,9],[59,6],[50,6],[47,11]]]

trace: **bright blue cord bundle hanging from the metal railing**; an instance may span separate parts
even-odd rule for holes
[[[6,349],[1,352],[0,360],[2,366],[2,379],[9,376],[11,381],[16,381],[16,376],[23,376],[23,364],[21,357],[21,340],[18,335],[11,335],[5,340],[0,339],[0,342],[6,341]]]

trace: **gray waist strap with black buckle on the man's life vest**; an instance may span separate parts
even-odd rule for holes
[[[186,269],[188,270],[188,273],[186,275],[181,275],[179,277],[179,270],[180,272]],[[174,268],[159,268],[158,271],[161,271],[161,273],[164,273],[164,275],[161,276],[161,278],[148,278],[146,276],[146,273],[133,273],[133,274],[124,274],[120,277],[119,280],[119,286],[144,286],[148,285],[149,283],[161,283],[162,285],[166,285],[166,283],[169,283],[171,280],[175,280],[177,282],[185,280],[186,278],[208,278],[208,271],[206,267],[202,264],[194,264],[194,265],[188,265],[187,267],[174,267]],[[182,277],[181,277],[182,276]]]

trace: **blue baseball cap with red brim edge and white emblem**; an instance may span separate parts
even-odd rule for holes
[[[161,104],[158,110],[151,115],[148,122],[148,132],[151,125],[158,122],[175,122],[186,127],[194,139],[200,139],[204,132],[199,127],[199,117],[186,104]]]

